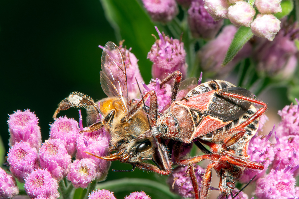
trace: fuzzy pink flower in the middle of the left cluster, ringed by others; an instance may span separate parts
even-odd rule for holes
[[[71,156],[61,140],[46,140],[38,153],[40,167],[47,169],[57,181],[61,181],[68,174]]]

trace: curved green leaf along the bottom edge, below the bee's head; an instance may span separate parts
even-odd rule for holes
[[[95,189],[109,189],[113,191],[116,198],[124,198],[131,192],[144,191],[152,199],[179,199],[179,195],[170,192],[169,187],[157,181],[140,178],[122,178],[119,180],[99,183]]]

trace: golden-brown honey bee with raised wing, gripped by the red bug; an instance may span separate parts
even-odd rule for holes
[[[56,118],[61,110],[70,107],[86,108],[88,113],[87,121],[90,126],[83,132],[93,132],[103,127],[106,128],[111,135],[109,152],[114,152],[106,157],[99,157],[96,154],[87,152],[88,154],[108,161],[120,160],[121,162],[130,163],[133,166],[132,170],[137,166],[164,175],[169,174],[171,162],[168,156],[162,158],[166,162],[165,165],[167,165],[164,168],[165,170],[162,170],[152,158],[158,138],[138,139],[141,134],[150,129],[151,124],[147,117],[146,107],[140,108],[142,101],[128,100],[126,67],[123,55],[119,47],[111,41],[108,41],[103,47],[101,69],[100,82],[108,98],[95,103],[88,95],[73,92],[58,104],[53,118]],[[147,96],[150,94],[151,92]],[[127,119],[124,121],[122,118]],[[165,154],[167,148],[159,143],[158,151],[160,154]],[[144,160],[152,160],[156,166],[142,162]]]

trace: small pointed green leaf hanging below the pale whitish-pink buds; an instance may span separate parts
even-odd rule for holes
[[[237,30],[237,33],[234,36],[233,41],[231,42],[231,45],[228,48],[228,51],[226,52],[225,58],[222,62],[222,66],[225,66],[230,62],[239,52],[239,50],[242,49],[244,44],[253,36],[253,33],[251,32],[251,29],[249,27],[241,26]]]

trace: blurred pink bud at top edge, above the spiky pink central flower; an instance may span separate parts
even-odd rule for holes
[[[153,21],[166,23],[173,20],[179,11],[175,0],[142,0],[142,2]]]

